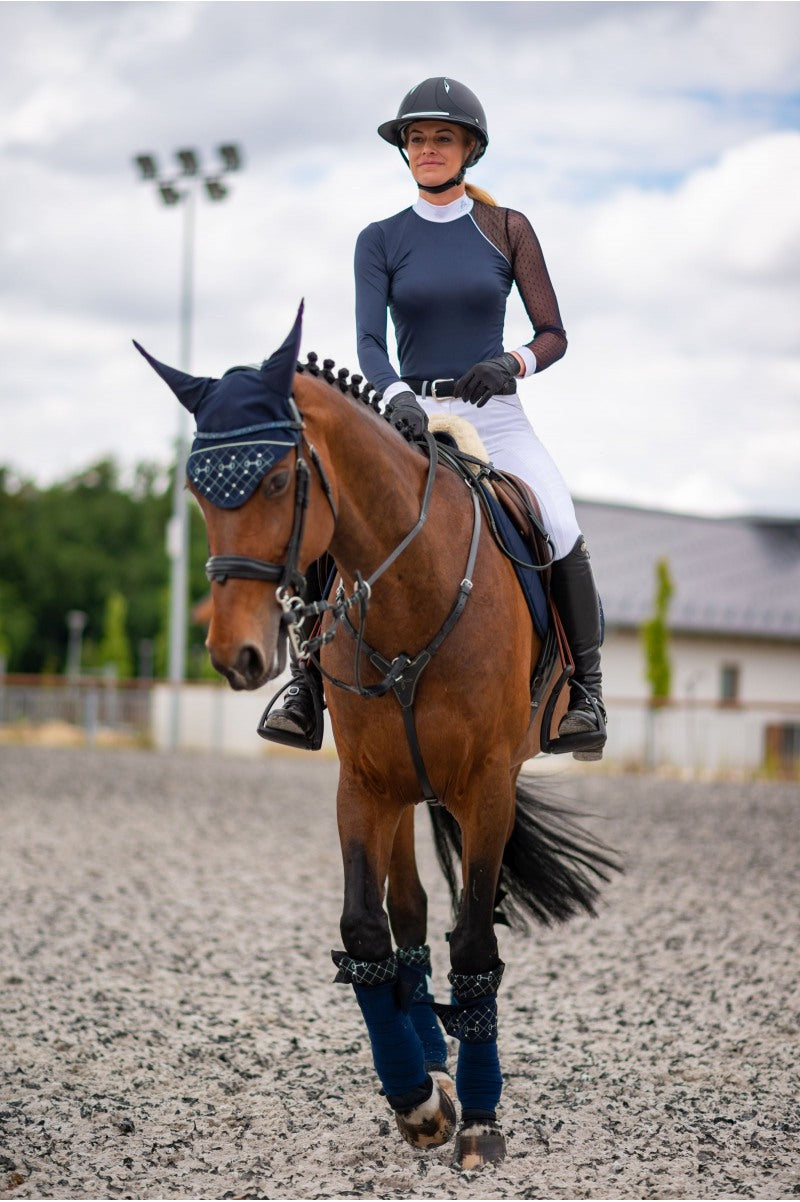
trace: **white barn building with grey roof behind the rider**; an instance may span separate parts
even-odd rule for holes
[[[800,519],[577,504],[605,615],[607,758],[800,773]],[[649,704],[643,624],[673,583],[671,689]]]

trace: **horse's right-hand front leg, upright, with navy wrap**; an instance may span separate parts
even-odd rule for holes
[[[497,953],[494,910],[503,849],[514,815],[507,775],[491,787],[477,783],[459,813],[464,893],[450,933],[453,1005],[437,1007],[448,1035],[459,1040],[455,1085],[461,1126],[455,1164],[461,1168],[500,1161],[506,1139],[497,1123],[502,1073],[497,1055],[497,989],[503,963]]]

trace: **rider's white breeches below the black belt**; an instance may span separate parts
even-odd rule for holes
[[[501,471],[511,471],[536,493],[544,526],[553,540],[555,558],[563,559],[578,541],[575,507],[563,476],[539,442],[517,394],[491,397],[482,409],[462,400],[423,400],[429,416],[452,413],[472,422],[489,457]]]

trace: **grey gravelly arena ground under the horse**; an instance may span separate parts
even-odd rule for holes
[[[542,783],[627,871],[596,920],[500,932],[509,1154],[465,1174],[401,1142],[332,983],[330,758],[0,769],[0,1195],[800,1197],[796,786]]]

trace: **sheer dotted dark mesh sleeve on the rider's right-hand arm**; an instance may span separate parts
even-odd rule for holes
[[[476,203],[472,214],[482,233],[511,263],[514,282],[533,327],[533,338],[526,345],[536,357],[536,370],[544,371],[563,356],[567,334],[561,325],[559,302],[539,239],[527,218],[514,209]]]

